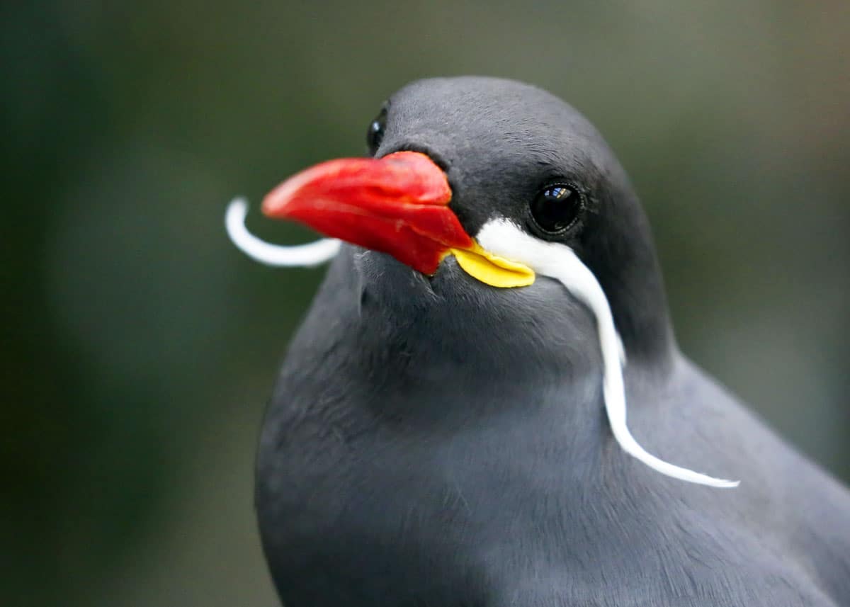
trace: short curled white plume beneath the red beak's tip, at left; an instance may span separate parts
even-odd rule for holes
[[[321,238],[306,245],[281,247],[261,241],[245,227],[248,203],[244,198],[234,198],[224,213],[224,227],[233,244],[248,257],[261,264],[277,268],[311,268],[324,264],[337,256],[342,244],[336,238]]]

